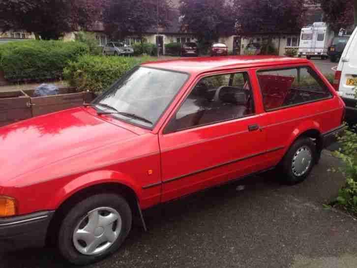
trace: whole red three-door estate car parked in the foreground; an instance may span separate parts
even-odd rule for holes
[[[146,208],[274,167],[304,180],[344,114],[305,59],[142,64],[85,107],[0,128],[1,247],[97,261]]]

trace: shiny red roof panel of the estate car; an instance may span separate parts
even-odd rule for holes
[[[298,63],[308,63],[308,60],[279,56],[223,56],[150,61],[143,63],[142,66],[188,73],[201,73],[221,69]]]

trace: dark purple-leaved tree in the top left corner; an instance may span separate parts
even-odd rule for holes
[[[0,0],[3,30],[34,32],[36,38],[59,39],[64,32],[86,30],[99,19],[103,0]]]

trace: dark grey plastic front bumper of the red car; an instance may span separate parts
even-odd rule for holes
[[[0,218],[0,251],[45,245],[48,226],[55,211]]]

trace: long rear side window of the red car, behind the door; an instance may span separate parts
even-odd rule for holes
[[[319,75],[308,66],[261,70],[257,76],[266,111],[332,96]]]

